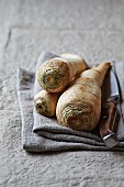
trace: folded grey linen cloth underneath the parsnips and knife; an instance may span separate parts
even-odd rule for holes
[[[42,90],[36,74],[38,67],[47,59],[58,55],[43,52],[37,61],[35,73],[19,68],[18,69],[18,98],[22,121],[22,145],[31,152],[66,151],[66,150],[89,150],[89,151],[124,151],[124,63],[114,63],[121,102],[117,106],[120,120],[116,135],[120,143],[112,148],[104,145],[98,131],[98,127],[92,132],[81,132],[61,127],[56,118],[46,118],[35,112],[34,96]],[[104,89],[105,88],[105,89]],[[102,96],[108,97],[109,76],[105,76]],[[104,92],[105,91],[105,92]]]

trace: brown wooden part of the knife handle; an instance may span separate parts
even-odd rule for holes
[[[109,133],[115,132],[115,118],[116,107],[114,102],[109,99],[103,106],[101,111],[101,119],[99,122],[99,131],[101,138],[104,138]]]

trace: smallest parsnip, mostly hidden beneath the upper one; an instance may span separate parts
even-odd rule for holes
[[[56,105],[59,97],[59,92],[52,94],[45,90],[40,91],[34,97],[34,106],[36,112],[45,117],[54,117],[56,114]]]

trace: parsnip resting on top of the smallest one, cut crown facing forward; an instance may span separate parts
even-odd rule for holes
[[[37,80],[48,92],[63,91],[72,78],[87,69],[82,57],[75,54],[61,54],[46,61],[38,69]]]

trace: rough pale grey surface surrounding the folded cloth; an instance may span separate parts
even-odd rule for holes
[[[124,61],[123,20],[123,0],[0,0],[0,187],[124,185],[123,153],[23,151],[15,86],[46,50]]]

